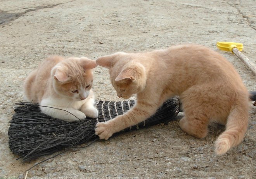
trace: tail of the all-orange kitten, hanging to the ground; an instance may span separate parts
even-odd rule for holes
[[[246,101],[246,100],[244,100]],[[238,145],[244,138],[248,126],[249,105],[247,103],[236,103],[228,115],[226,130],[215,142],[215,153],[225,154],[230,148]]]

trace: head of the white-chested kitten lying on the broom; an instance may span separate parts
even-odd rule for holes
[[[55,92],[73,100],[84,100],[89,96],[92,88],[91,69],[95,67],[97,67],[95,60],[86,57],[62,60],[51,71]]]

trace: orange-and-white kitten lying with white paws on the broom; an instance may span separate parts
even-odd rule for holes
[[[25,80],[24,93],[29,102],[42,106],[44,114],[68,122],[98,117],[93,107],[93,74],[91,69],[97,64],[94,60],[82,58],[63,59],[52,56],[44,60]],[[74,116],[75,115],[75,116]]]

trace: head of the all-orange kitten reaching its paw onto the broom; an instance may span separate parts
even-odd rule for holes
[[[128,99],[145,88],[145,68],[134,59],[135,54],[118,52],[96,60],[98,65],[109,69],[112,86],[119,98]]]

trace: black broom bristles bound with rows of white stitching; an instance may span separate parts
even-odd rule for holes
[[[8,131],[10,150],[30,161],[42,155],[75,147],[97,139],[95,125],[106,122],[129,110],[135,100],[124,102],[97,101],[97,119],[87,118],[78,122],[65,122],[43,114],[36,103],[17,103]],[[178,97],[166,101],[149,119],[130,129],[168,122],[180,112]]]

